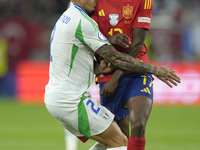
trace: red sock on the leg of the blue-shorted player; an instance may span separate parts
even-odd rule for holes
[[[145,136],[137,138],[131,135],[128,140],[127,150],[144,150],[145,144],[146,144]]]

